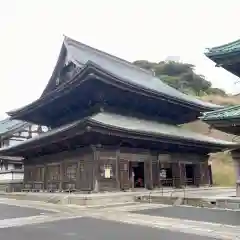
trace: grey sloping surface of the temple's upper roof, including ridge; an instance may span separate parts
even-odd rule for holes
[[[134,84],[141,88],[149,89],[151,91],[168,95],[176,100],[199,105],[205,108],[217,109],[221,107],[181,93],[162,82],[159,78],[154,77],[151,71],[139,68],[130,62],[103,51],[99,51],[69,37],[65,37],[64,46],[67,50],[68,60],[71,60],[79,67],[82,67],[87,62],[91,61],[100,66],[106,72],[114,74],[127,83]]]

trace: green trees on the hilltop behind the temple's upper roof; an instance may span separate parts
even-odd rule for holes
[[[138,60],[134,64],[153,71],[156,77],[181,92],[196,96],[226,95],[223,90],[212,88],[211,82],[207,81],[204,76],[195,73],[195,66],[192,64],[174,61],[154,63],[146,60]]]

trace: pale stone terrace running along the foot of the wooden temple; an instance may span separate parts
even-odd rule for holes
[[[30,201],[42,201],[54,204],[75,204],[83,206],[102,206],[108,204],[121,204],[132,202],[135,197],[154,197],[155,199],[161,197],[186,197],[194,199],[203,199],[203,201],[211,202],[216,197],[232,196],[235,194],[234,188],[218,188],[218,187],[201,187],[201,188],[186,188],[186,189],[156,189],[148,191],[139,189],[130,192],[106,192],[106,193],[4,193],[0,192],[0,197],[18,199],[18,200],[30,200]],[[201,201],[201,200],[200,200]],[[159,203],[168,203],[165,201],[158,201]]]

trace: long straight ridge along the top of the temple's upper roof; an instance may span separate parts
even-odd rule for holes
[[[143,72],[143,73],[145,73],[145,74],[149,74],[149,75],[153,76],[152,71],[148,71],[148,70],[146,70],[146,69],[140,68],[140,67],[134,65],[133,63],[131,63],[131,62],[125,60],[125,59],[116,57],[116,56],[114,56],[114,55],[112,55],[112,54],[109,54],[109,53],[107,53],[107,52],[105,52],[105,51],[102,51],[102,50],[96,49],[96,48],[94,48],[94,47],[91,47],[91,46],[89,46],[89,45],[87,45],[87,44],[85,44],[85,43],[81,43],[81,42],[79,42],[79,41],[77,41],[77,40],[74,40],[74,39],[68,37],[68,36],[64,36],[64,37],[65,37],[64,42],[65,42],[65,41],[70,41],[70,42],[72,42],[72,43],[75,43],[75,44],[76,44],[78,47],[80,47],[80,48],[85,48],[85,49],[88,49],[88,50],[90,50],[90,51],[93,51],[93,52],[96,53],[96,54],[104,55],[104,56],[106,56],[106,57],[108,57],[108,58],[110,58],[110,59],[112,59],[112,60],[117,61],[117,62],[120,63],[120,64],[126,65],[126,66],[128,66],[128,67],[131,67],[131,68],[133,68],[133,69],[136,69],[136,70],[138,70],[138,71],[141,71],[141,72]]]

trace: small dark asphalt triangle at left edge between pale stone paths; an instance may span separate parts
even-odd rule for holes
[[[34,208],[17,207],[6,204],[0,204],[0,220],[10,218],[30,217],[40,214],[53,213],[50,211],[38,210]]]

